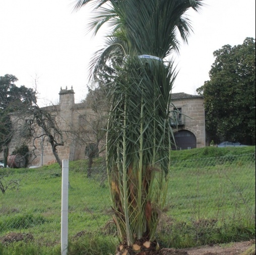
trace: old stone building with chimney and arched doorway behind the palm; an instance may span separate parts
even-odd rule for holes
[[[97,136],[95,126],[99,126],[105,112],[95,113],[85,103],[75,104],[74,90],[60,89],[59,105],[44,107],[50,112],[63,134],[64,145],[57,147],[60,159],[85,159],[85,148],[90,143],[96,143],[99,148],[104,147],[105,137]],[[173,149],[193,149],[206,145],[204,99],[202,96],[193,96],[185,93],[172,94],[172,106],[170,108],[170,124],[173,129],[176,146]],[[101,116],[100,116],[101,115]],[[22,124],[29,121],[28,118],[16,120],[13,123]],[[106,118],[105,118],[106,120]],[[24,126],[24,125],[19,125]],[[42,130],[37,128],[37,137],[24,137],[19,128],[9,144],[9,154],[14,149],[26,142],[31,151],[30,165],[41,166],[55,162],[52,148],[46,136],[40,136]],[[76,134],[76,135],[74,135]],[[104,152],[103,152],[104,153]],[[0,159],[3,155],[0,154]]]

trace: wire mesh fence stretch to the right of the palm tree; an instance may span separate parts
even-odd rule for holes
[[[247,219],[255,213],[254,198],[254,153],[177,161],[171,166],[168,205],[170,215],[177,218],[189,215],[223,223],[228,218]]]

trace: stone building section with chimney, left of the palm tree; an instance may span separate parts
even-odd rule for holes
[[[57,146],[57,154],[60,159],[69,159],[71,161],[77,159],[85,159],[85,148],[88,144],[97,143],[99,148],[102,148],[105,139],[97,136],[97,130],[93,125],[99,125],[99,115],[103,112],[95,113],[85,103],[75,104],[74,90],[60,89],[59,105],[43,107],[42,109],[49,112],[57,123],[58,129],[63,135],[63,146]],[[31,119],[31,116],[25,118],[17,115],[11,116],[15,133],[9,143],[9,154],[21,144],[26,143],[29,147],[29,165],[41,166],[56,162],[52,153],[52,147],[48,142],[48,138],[43,133],[42,129],[34,126],[33,136],[23,135],[21,132],[26,123]],[[37,137],[37,138],[35,138]],[[2,153],[3,154],[3,153]],[[0,158],[3,155],[0,154]]]

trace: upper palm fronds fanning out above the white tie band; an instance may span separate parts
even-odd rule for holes
[[[178,50],[177,31],[187,41],[191,25],[186,11],[199,11],[203,6],[201,0],[78,0],[75,10],[89,3],[95,6],[95,16],[88,24],[90,30],[97,33],[105,23],[112,31],[122,28],[138,54],[161,58]]]

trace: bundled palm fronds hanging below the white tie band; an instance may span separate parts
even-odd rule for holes
[[[154,211],[161,208],[161,199],[155,192],[163,189],[170,162],[166,108],[176,76],[172,66],[154,59],[140,59],[130,52],[112,82],[107,167],[110,180],[120,180],[117,183],[123,192],[121,197],[125,198],[124,215],[129,215],[130,223],[126,237],[131,231],[138,238],[152,235],[152,226],[158,221]],[[156,175],[158,182],[154,182]]]

